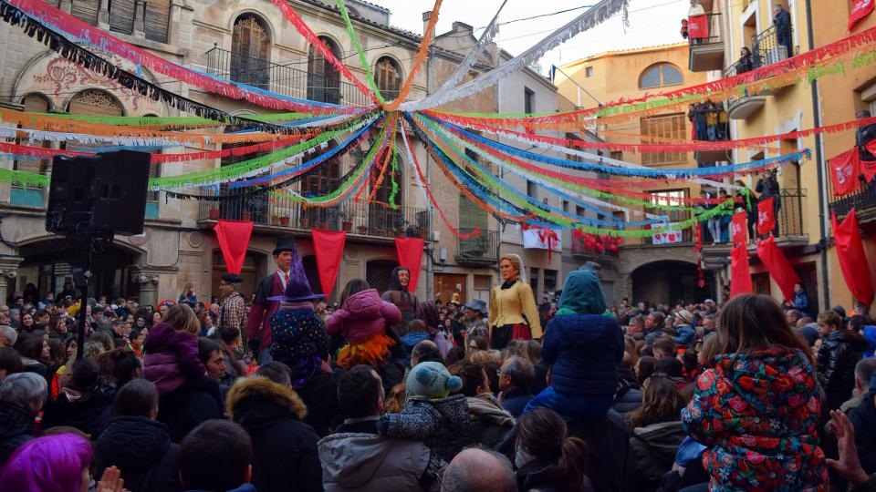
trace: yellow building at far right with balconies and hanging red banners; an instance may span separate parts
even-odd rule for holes
[[[714,0],[705,5],[709,12],[709,37],[689,46],[689,67],[710,73],[710,78],[731,77],[746,68],[741,63],[743,49],[752,55],[751,69],[780,62],[848,36],[849,9],[835,2],[787,0]],[[780,8],[778,8],[780,7]],[[811,8],[811,10],[809,10]],[[784,13],[782,12],[784,11]],[[783,22],[783,18],[789,21]],[[871,17],[857,30],[873,25]],[[811,31],[811,34],[810,34]],[[723,68],[722,72],[718,72]],[[830,76],[818,84],[799,83],[775,90],[733,97],[725,102],[730,118],[731,138],[754,138],[783,134],[849,121],[857,109],[869,108],[876,100],[871,88],[876,69],[849,70],[843,77]],[[737,149],[734,162],[776,157],[802,149],[812,151],[812,159],[788,162],[779,172],[781,207],[777,210],[777,243],[809,292],[808,311],[818,313],[830,306],[850,307],[851,297],[833,251],[829,210],[845,213],[857,204],[872,209],[872,189],[861,191],[848,200],[831,198],[826,161],[850,149],[854,131],[831,134],[826,138],[798,138],[770,144],[765,149]],[[747,185],[756,189],[758,176],[748,177]],[[866,219],[864,214],[862,219]],[[876,244],[869,240],[871,257]],[[719,269],[719,282],[729,279],[726,247],[704,249],[706,264]],[[784,300],[766,268],[758,261],[754,244],[749,245],[755,291]]]

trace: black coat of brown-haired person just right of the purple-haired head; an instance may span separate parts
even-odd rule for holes
[[[171,442],[167,425],[142,416],[112,419],[94,443],[95,477],[118,466],[130,492],[181,490],[180,447]]]

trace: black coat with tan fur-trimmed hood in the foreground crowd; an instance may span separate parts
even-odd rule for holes
[[[294,391],[263,377],[242,379],[228,392],[228,409],[253,440],[255,490],[322,490],[319,436],[301,421],[308,409]]]

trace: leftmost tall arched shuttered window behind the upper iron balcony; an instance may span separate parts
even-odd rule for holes
[[[271,36],[262,19],[252,14],[237,17],[231,37],[231,79],[267,88],[270,52]]]

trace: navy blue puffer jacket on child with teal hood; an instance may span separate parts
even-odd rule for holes
[[[551,385],[558,393],[613,396],[623,358],[623,333],[609,316],[558,315],[547,325],[541,358],[553,366]]]

